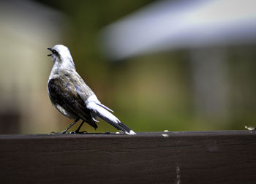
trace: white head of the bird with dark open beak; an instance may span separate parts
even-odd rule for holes
[[[59,64],[71,64],[75,66],[68,47],[64,45],[54,45],[54,47],[48,48],[48,50],[51,52],[51,54],[48,54],[48,56],[52,56],[53,64],[57,62]]]

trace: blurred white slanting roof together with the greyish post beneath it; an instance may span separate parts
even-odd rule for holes
[[[102,30],[105,55],[188,50],[195,112],[228,116],[230,84],[225,47],[256,43],[256,1],[154,1]]]

